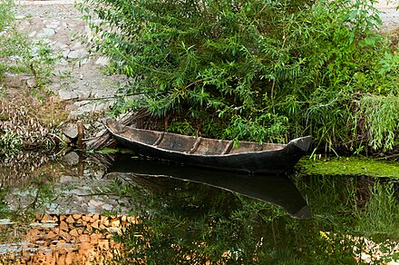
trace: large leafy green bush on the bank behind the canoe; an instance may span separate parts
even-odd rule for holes
[[[394,90],[374,0],[84,3],[93,51],[134,80],[122,93],[142,94],[116,105],[177,122],[173,131],[258,142],[311,133],[333,147],[357,136],[358,94]]]

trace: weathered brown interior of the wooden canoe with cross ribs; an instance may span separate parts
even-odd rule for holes
[[[257,142],[239,142],[233,147],[232,141],[216,140],[185,136],[170,132],[156,132],[141,129],[132,129],[120,123],[108,123],[115,134],[135,142],[142,142],[160,149],[174,152],[186,152],[200,155],[223,155],[244,152],[276,151],[283,149],[285,144]]]

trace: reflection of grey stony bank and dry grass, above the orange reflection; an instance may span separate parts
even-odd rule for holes
[[[24,152],[17,158],[0,162],[0,187],[5,191],[4,199],[10,211],[86,212],[90,207],[96,208],[98,203],[101,203],[99,209],[106,205],[107,209],[116,208],[118,212],[127,207],[119,207],[122,201],[111,197],[113,194],[103,197],[97,194],[96,189],[106,181],[102,181],[104,167],[95,162],[74,161],[76,163],[70,164],[69,160],[52,160],[37,152],[32,155]]]

